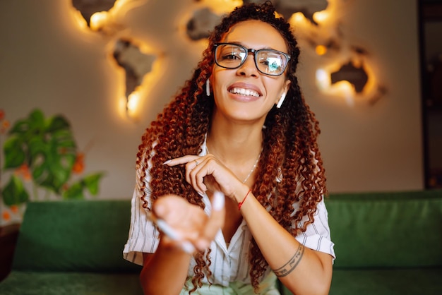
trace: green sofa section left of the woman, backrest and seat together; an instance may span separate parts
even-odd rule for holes
[[[1,295],[143,294],[141,267],[122,258],[129,200],[28,204]]]

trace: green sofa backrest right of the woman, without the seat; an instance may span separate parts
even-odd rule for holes
[[[335,268],[442,266],[442,191],[334,193]]]

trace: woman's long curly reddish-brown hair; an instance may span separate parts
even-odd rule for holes
[[[148,207],[145,202],[148,192],[151,200],[174,193],[189,203],[204,207],[201,195],[186,182],[184,167],[169,167],[162,163],[201,152],[214,105],[213,97],[207,97],[203,91],[214,64],[213,44],[220,42],[232,25],[245,20],[261,20],[272,25],[285,39],[292,56],[286,70],[291,83],[285,102],[280,109],[273,107],[265,119],[263,151],[252,190],[263,207],[270,208],[270,215],[296,236],[313,222],[316,206],[326,193],[323,162],[316,140],[320,130],[295,76],[299,58],[297,41],[289,23],[275,16],[275,8],[269,2],[239,6],[215,27],[191,79],[186,80],[179,94],[143,134],[136,159],[138,189],[143,207]],[[145,181],[146,173],[150,173],[150,184]],[[281,181],[277,181],[278,178]],[[299,203],[297,212],[294,212],[294,203]],[[304,217],[308,218],[307,222],[301,222]],[[250,276],[256,289],[268,263],[254,240],[251,245]],[[196,275],[192,278],[194,287],[191,291],[201,287],[205,275],[211,275],[209,254],[210,251],[195,255]]]

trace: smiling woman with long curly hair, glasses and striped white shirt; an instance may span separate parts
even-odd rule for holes
[[[298,56],[270,3],[236,8],[145,131],[124,248],[145,294],[279,294],[275,276],[294,294],[328,294],[319,128]]]

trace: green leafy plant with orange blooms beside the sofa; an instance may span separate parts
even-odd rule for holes
[[[69,122],[64,116],[48,118],[40,109],[28,118],[16,121],[7,133],[3,145],[4,165],[11,171],[1,187],[5,205],[20,205],[38,200],[39,193],[47,198],[85,198],[97,195],[102,172],[81,176],[84,154],[78,151]],[[77,174],[73,177],[73,174]],[[31,191],[25,181],[32,183]]]

